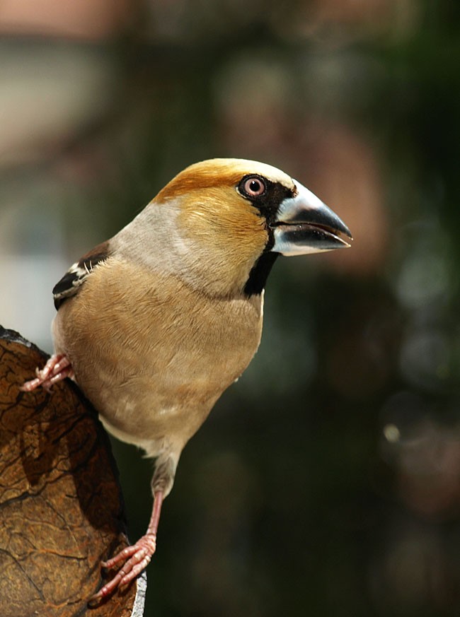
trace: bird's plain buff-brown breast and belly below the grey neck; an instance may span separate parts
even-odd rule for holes
[[[209,299],[115,259],[54,320],[56,351],[108,429],[139,445],[185,444],[251,361],[261,331],[260,296]]]

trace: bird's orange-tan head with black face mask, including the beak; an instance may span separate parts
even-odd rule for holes
[[[350,230],[289,175],[253,160],[190,165],[144,211],[163,225],[163,260],[215,295],[260,293],[278,255],[350,247]],[[142,215],[141,215],[142,217]],[[161,217],[163,221],[161,222]],[[171,225],[173,218],[173,225]]]

